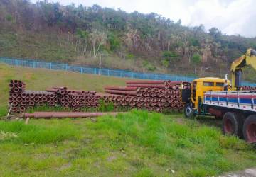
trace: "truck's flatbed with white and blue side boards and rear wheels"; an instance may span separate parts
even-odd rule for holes
[[[256,142],[256,91],[208,91],[203,112],[223,120],[225,134]]]

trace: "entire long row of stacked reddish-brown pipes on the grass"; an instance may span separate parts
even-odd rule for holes
[[[114,106],[146,108],[147,110],[181,110],[181,93],[191,84],[181,81],[127,81],[127,86],[106,86],[106,93],[69,90],[67,87],[53,87],[46,91],[25,90],[22,81],[11,80],[9,106],[11,113],[22,113],[28,108],[48,105],[72,110],[95,108],[100,100],[114,103]]]

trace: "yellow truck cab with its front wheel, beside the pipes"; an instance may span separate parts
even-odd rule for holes
[[[203,109],[201,109],[203,94],[206,91],[224,91],[226,84],[230,85],[230,81],[215,77],[204,77],[193,80],[191,83],[191,96],[187,99],[184,108],[185,116],[191,116],[192,112],[197,115],[203,115]]]

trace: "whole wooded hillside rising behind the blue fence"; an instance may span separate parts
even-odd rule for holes
[[[159,14],[0,1],[0,55],[139,72],[221,76],[256,38],[187,27]],[[252,70],[244,79],[255,81]]]

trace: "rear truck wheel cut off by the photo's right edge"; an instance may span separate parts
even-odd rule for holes
[[[247,142],[256,142],[256,115],[249,115],[249,117],[245,119],[242,132]]]

